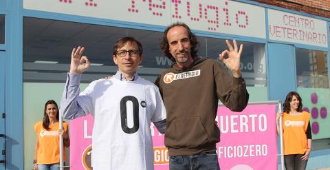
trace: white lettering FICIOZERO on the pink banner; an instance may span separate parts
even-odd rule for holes
[[[241,158],[268,155],[267,145],[220,146],[217,151],[219,158]]]

